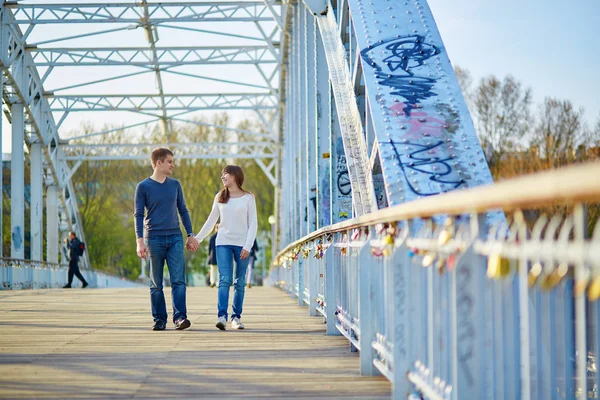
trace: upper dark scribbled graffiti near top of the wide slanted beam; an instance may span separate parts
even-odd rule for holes
[[[425,42],[421,35],[380,40],[361,51],[361,56],[375,71],[375,79],[391,88],[391,95],[405,100],[404,112],[410,116],[417,104],[437,96],[433,86],[437,79],[417,76],[424,63],[440,53],[440,49]]]

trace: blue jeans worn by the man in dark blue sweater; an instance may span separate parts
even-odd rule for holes
[[[167,322],[167,306],[162,286],[165,261],[171,277],[173,321],[187,318],[182,235],[153,236],[146,239],[146,245],[149,254],[150,302],[154,321]]]

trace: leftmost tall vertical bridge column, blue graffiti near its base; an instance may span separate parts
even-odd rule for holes
[[[23,104],[11,106],[12,154],[10,160],[10,256],[25,258],[25,125]]]

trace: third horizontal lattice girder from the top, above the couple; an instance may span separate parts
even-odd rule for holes
[[[48,96],[52,111],[154,111],[161,110],[160,95],[61,95]],[[165,95],[166,110],[275,109],[270,93],[171,94]]]

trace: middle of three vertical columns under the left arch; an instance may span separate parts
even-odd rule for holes
[[[42,144],[33,143],[30,152],[31,160],[31,259],[42,260],[43,236],[43,175],[42,175]]]

